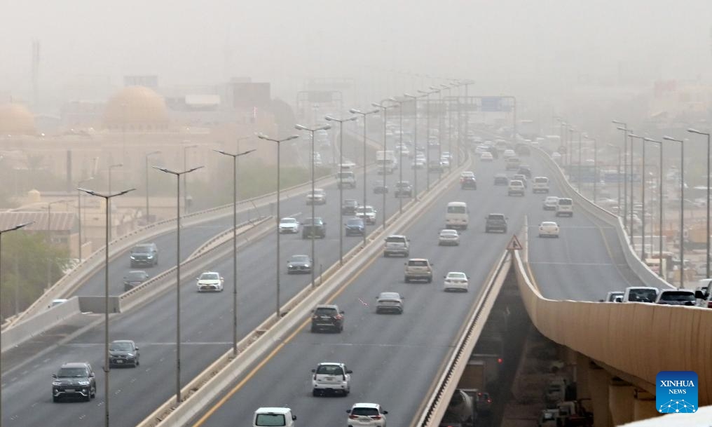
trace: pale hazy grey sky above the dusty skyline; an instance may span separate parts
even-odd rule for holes
[[[620,61],[708,80],[710,18],[711,0],[0,0],[0,91],[30,87],[33,38],[43,90],[157,74],[163,84],[252,76],[295,91],[306,76],[389,70],[508,88],[614,74]]]

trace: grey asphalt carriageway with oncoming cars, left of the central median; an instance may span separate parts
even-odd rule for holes
[[[424,171],[420,170],[421,179]],[[392,187],[397,175],[389,175]],[[375,174],[368,177],[368,203],[381,210],[382,196],[373,195],[370,182],[379,178]],[[382,177],[380,177],[382,178]],[[404,178],[412,178],[412,170],[404,170]],[[431,176],[434,180],[436,175]],[[358,177],[355,189],[344,190],[345,198],[361,200],[363,195],[362,177]],[[339,193],[327,187],[328,202],[315,207],[315,214],[327,222],[327,238],[315,245],[317,267],[337,262],[339,254],[339,234],[342,228]],[[399,200],[388,195],[387,212],[392,214],[399,206]],[[404,200],[407,202],[408,200]],[[311,207],[305,205],[305,197],[283,200],[282,216],[295,215],[300,218],[310,216]],[[216,220],[183,230],[182,253],[189,254],[202,242],[231,225],[231,217]],[[374,230],[381,225],[367,226]],[[175,235],[168,233],[158,237],[159,266],[147,269],[152,274],[163,271],[174,264]],[[344,237],[345,252],[359,245],[360,237]],[[274,233],[252,242],[239,253],[238,319],[240,337],[252,331],[264,319],[274,313],[276,303],[276,236]],[[287,259],[292,254],[309,254],[310,242],[301,235],[283,235],[281,238],[281,302],[284,303],[305,287],[310,275],[286,274]],[[213,267],[225,277],[226,292],[230,292],[232,278],[232,257],[216,261]],[[129,271],[127,254],[118,257],[110,265],[110,292],[123,292],[121,278]],[[77,294],[103,294],[103,274],[92,277]],[[219,355],[231,347],[232,304],[226,294],[197,294],[194,277],[183,277],[182,299],[182,384],[186,384],[196,374],[205,369]],[[167,292],[160,297],[142,304],[130,312],[113,315],[110,320],[110,339],[133,339],[141,351],[141,365],[137,369],[115,369],[110,374],[110,410],[112,426],[135,426],[148,416],[160,403],[174,394],[175,372],[175,294]],[[95,315],[96,317],[100,317]],[[74,339],[56,348],[44,351],[36,357],[29,351],[25,359],[14,365],[6,364],[3,374],[3,421],[6,426],[36,426],[52,419],[62,426],[95,426],[103,417],[103,324],[79,334]],[[21,349],[17,349],[21,351]],[[63,362],[89,361],[97,371],[98,394],[91,403],[51,403],[51,374]]]

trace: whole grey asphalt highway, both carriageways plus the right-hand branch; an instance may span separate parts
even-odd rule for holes
[[[535,175],[547,175],[543,165],[534,158],[528,161]],[[311,334],[308,328],[299,329],[261,369],[247,373],[235,384],[224,403],[206,408],[204,421],[196,420],[197,425],[232,425],[236,419],[246,424],[258,406],[290,406],[302,425],[345,425],[345,410],[355,401],[381,403],[389,410],[389,425],[409,425],[451,351],[483,280],[506,247],[511,233],[523,225],[525,215],[529,215],[532,227],[530,261],[545,296],[597,300],[608,290],[634,284],[632,274],[622,262],[613,230],[607,230],[605,225],[577,210],[574,217],[557,220],[562,228],[559,239],[538,239],[535,232],[538,222],[554,215],[541,210],[543,196],[528,192],[525,197],[508,197],[506,187],[493,186],[492,176],[503,170],[502,160],[478,163],[475,170],[478,190],[454,187],[443,192],[424,215],[400,230],[411,239],[412,257],[429,257],[434,262],[433,283],[405,284],[402,259],[374,259],[333,297],[333,302],[346,312],[342,334]],[[412,180],[412,172],[407,172],[404,178]],[[391,175],[389,180],[393,182],[395,177],[397,174]],[[422,178],[424,173],[421,175],[424,182]],[[552,194],[558,194],[556,188]],[[346,198],[359,199],[361,195],[362,189],[345,190]],[[373,202],[370,204],[380,209],[381,197],[371,193],[369,197]],[[317,259],[325,267],[337,260],[336,227],[342,222],[337,212],[337,190],[328,190],[328,200],[327,205],[316,207],[317,215],[328,222],[327,239],[317,243]],[[460,247],[438,247],[437,235],[444,224],[445,205],[454,200],[468,202],[471,227],[463,233]],[[393,212],[397,200],[389,196],[387,201],[389,212]],[[283,216],[298,212],[303,212],[302,217],[310,212],[302,198],[283,203]],[[508,215],[508,234],[484,233],[483,218],[490,212]],[[224,220],[221,224],[196,227],[194,246],[228,225],[229,220]],[[165,245],[170,247],[171,237],[167,235],[166,239]],[[239,336],[273,314],[274,240],[271,234],[239,254]],[[360,239],[345,237],[345,242],[347,247],[352,247]],[[308,254],[308,240],[301,240],[299,235],[286,235],[282,248],[286,264],[290,254]],[[161,266],[167,267],[166,260],[170,258],[165,255],[167,248],[162,249]],[[186,248],[184,252],[191,250]],[[119,259],[117,263],[123,265],[112,269],[120,278],[128,269],[127,260]],[[214,269],[224,274],[230,289],[231,258],[219,260]],[[443,292],[442,277],[448,271],[466,272],[471,277],[470,292]],[[308,284],[307,276],[287,276],[285,271],[281,274],[283,301]],[[120,290],[115,292],[118,294]],[[375,314],[375,297],[383,291],[400,292],[406,297],[404,314]],[[142,353],[142,364],[137,369],[112,370],[112,425],[135,426],[173,395],[174,305],[174,294],[169,292],[131,312],[112,317],[112,339],[134,339]],[[182,319],[182,383],[185,384],[229,349],[231,299],[221,294],[197,294],[194,282],[187,280],[182,289]],[[28,356],[21,366],[10,366],[3,376],[4,424],[36,426],[51,419],[62,426],[95,426],[103,417],[105,402],[103,374],[99,368],[102,350],[103,325],[99,325],[41,358]],[[51,403],[51,374],[63,361],[76,360],[90,361],[98,368],[97,398],[90,403]],[[348,398],[311,396],[310,369],[320,361],[344,361],[354,371],[352,394]]]

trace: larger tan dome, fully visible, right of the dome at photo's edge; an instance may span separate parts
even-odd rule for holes
[[[104,126],[116,130],[167,128],[166,103],[158,93],[143,86],[128,86],[106,103]]]

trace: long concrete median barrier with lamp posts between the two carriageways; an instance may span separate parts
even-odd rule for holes
[[[471,164],[470,159],[466,159],[461,168],[454,168],[449,174],[444,174],[443,179],[431,187],[430,191],[422,192],[421,199],[416,202],[411,200],[404,205],[405,210],[402,215],[394,214],[393,220],[386,230],[371,233],[366,247],[354,247],[345,254],[345,262],[340,266],[335,262],[329,267],[319,279],[315,286],[307,286],[295,297],[283,304],[281,317],[272,315],[251,334],[248,334],[238,343],[238,355],[233,356],[232,350],[227,351],[223,356],[214,361],[201,374],[197,375],[182,389],[184,401],[177,406],[174,398],[169,399],[156,409],[150,416],[147,416],[137,427],[155,427],[159,425],[182,426],[192,417],[199,413],[200,408],[208,404],[222,390],[226,389],[231,381],[234,381],[248,366],[258,361],[266,351],[278,344],[289,331],[297,327],[303,319],[308,316],[311,307],[317,302],[325,300],[342,283],[352,279],[352,274],[366,264],[372,257],[377,256],[382,251],[382,237],[400,230],[412,222],[414,218],[429,207],[432,201],[439,197],[441,190],[449,187],[456,180],[459,172],[465,170]],[[411,209],[416,207],[416,209]],[[362,254],[363,257],[356,257]]]

